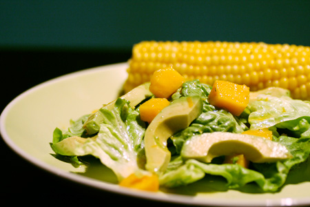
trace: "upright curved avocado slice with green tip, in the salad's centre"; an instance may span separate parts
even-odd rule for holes
[[[151,172],[164,172],[171,158],[167,139],[175,132],[187,128],[203,111],[200,97],[180,97],[163,108],[145,131],[145,168]]]

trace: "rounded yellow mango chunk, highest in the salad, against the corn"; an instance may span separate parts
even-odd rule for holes
[[[149,91],[155,97],[167,99],[182,86],[184,81],[185,78],[173,68],[156,70],[151,77]]]

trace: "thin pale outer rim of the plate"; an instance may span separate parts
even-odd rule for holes
[[[103,66],[97,66],[94,68],[87,68],[83,70],[78,70],[75,72],[70,72],[65,75],[61,75],[59,77],[55,77],[53,79],[50,79],[48,81],[44,81],[43,83],[39,83],[37,86],[33,86],[32,88],[29,88],[28,90],[25,90],[20,95],[12,99],[8,103],[8,105],[3,109],[0,115],[0,134],[3,139],[3,141],[6,143],[6,145],[19,157],[22,157],[25,161],[30,162],[34,166],[37,166],[41,170],[45,170],[45,172],[50,172],[52,175],[56,175],[65,179],[68,179],[70,181],[74,181],[79,184],[83,184],[85,186],[90,186],[93,188],[97,188],[100,190],[106,190],[112,193],[118,193],[121,195],[129,195],[136,198],[143,198],[143,199],[149,199],[149,200],[156,200],[156,201],[164,201],[169,203],[175,203],[175,204],[191,204],[191,205],[201,205],[201,206],[292,206],[292,205],[305,205],[310,204],[310,196],[309,198],[274,198],[274,199],[253,199],[253,198],[247,198],[242,200],[236,200],[236,199],[223,199],[222,201],[218,201],[218,198],[207,198],[207,202],[205,200],[205,197],[198,198],[191,195],[177,195],[173,193],[152,193],[147,191],[141,191],[141,190],[132,190],[130,188],[123,188],[121,186],[118,186],[116,184],[110,184],[105,181],[100,181],[97,179],[93,179],[90,177],[84,177],[82,175],[76,175],[71,172],[65,171],[60,168],[56,168],[56,166],[52,166],[50,164],[45,163],[44,161],[41,161],[40,159],[37,159],[36,157],[28,154],[25,152],[20,146],[14,143],[12,139],[10,139],[10,136],[8,135],[8,132],[6,132],[6,117],[8,116],[8,112],[10,111],[10,108],[14,106],[15,103],[17,103],[20,99],[27,96],[31,92],[35,90],[39,90],[40,88],[43,88],[44,86],[47,86],[49,84],[56,83],[57,81],[62,81],[63,79],[68,79],[70,77],[76,77],[83,74],[88,74],[90,72],[99,72],[101,70],[108,70],[109,68],[118,68],[118,70],[125,70],[125,66],[127,66],[127,62],[122,63],[112,63],[107,64]],[[113,69],[115,70],[115,69]]]

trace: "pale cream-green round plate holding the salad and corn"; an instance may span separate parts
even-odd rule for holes
[[[32,164],[72,181],[159,201],[204,206],[291,206],[310,204],[310,167],[291,176],[279,193],[242,193],[227,190],[222,179],[203,179],[182,188],[148,193],[116,184],[113,172],[98,161],[87,171],[56,159],[50,148],[54,128],[67,128],[70,119],[92,112],[118,97],[125,79],[127,63],[81,70],[31,88],[14,99],[0,117],[1,135],[18,155]],[[309,165],[310,166],[310,162]],[[72,173],[74,172],[74,173]],[[302,175],[298,175],[302,173]],[[296,181],[306,177],[307,181]],[[248,189],[249,190],[249,189]]]

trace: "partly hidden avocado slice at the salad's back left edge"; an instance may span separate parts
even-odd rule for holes
[[[137,86],[136,88],[130,90],[130,92],[127,92],[120,98],[130,101],[130,106],[134,108],[138,105],[138,103],[141,103],[141,101],[153,95],[152,92],[149,91],[149,84],[149,82],[143,83],[140,86]],[[107,103],[102,108],[112,110],[115,101],[116,100]],[[83,124],[83,128],[85,128],[88,135],[94,135],[96,132],[99,132],[100,124],[102,123],[102,121],[103,115],[100,110],[97,110],[96,112],[92,113],[90,117],[88,117],[87,121],[85,121],[85,123]]]

